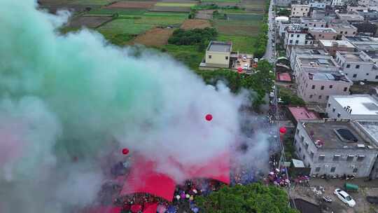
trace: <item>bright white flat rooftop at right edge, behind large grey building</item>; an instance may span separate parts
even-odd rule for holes
[[[332,96],[343,108],[351,107],[352,115],[378,115],[378,101],[370,95]]]

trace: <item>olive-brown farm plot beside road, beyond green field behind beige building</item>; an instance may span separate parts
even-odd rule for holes
[[[228,36],[256,36],[260,31],[260,22],[251,20],[216,20],[214,26]]]

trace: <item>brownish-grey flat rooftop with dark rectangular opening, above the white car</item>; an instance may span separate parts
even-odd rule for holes
[[[323,144],[323,146],[318,147],[318,149],[361,149],[358,148],[358,144],[371,145],[358,134],[356,128],[351,125],[351,121],[304,121],[302,122],[302,125],[314,144],[319,141],[321,144]],[[340,137],[341,134],[336,133],[336,130],[347,132],[347,135],[351,136],[355,140],[349,140],[346,142],[346,140]]]

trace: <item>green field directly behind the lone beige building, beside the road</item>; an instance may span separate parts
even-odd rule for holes
[[[231,41],[232,51],[239,51],[240,53],[252,54],[255,50],[255,38],[252,36],[218,36],[218,41]]]

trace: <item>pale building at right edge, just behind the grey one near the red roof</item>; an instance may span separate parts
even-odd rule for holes
[[[337,52],[336,62],[351,81],[378,81],[377,64],[364,52]]]

